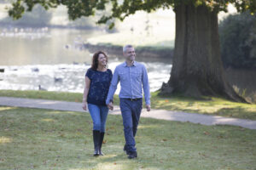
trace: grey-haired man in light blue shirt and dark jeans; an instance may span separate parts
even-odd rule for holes
[[[113,110],[113,94],[120,82],[119,99],[125,133],[124,150],[128,158],[132,159],[137,157],[134,137],[143,109],[143,92],[147,111],[150,111],[150,92],[147,70],[144,65],[135,61],[134,48],[131,45],[125,45],[123,54],[125,62],[118,65],[113,72],[106,104],[110,110]]]

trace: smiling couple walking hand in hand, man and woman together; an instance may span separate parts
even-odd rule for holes
[[[125,146],[128,158],[137,157],[135,135],[143,109],[143,93],[147,111],[150,111],[148,73],[144,65],[135,61],[135,49],[123,48],[125,62],[112,74],[107,69],[108,56],[102,51],[94,54],[92,65],[85,75],[83,109],[88,110],[93,121],[94,156],[103,156],[102,142],[108,110],[113,110],[113,94],[120,82],[119,106],[123,117]]]

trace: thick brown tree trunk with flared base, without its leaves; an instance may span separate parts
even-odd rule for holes
[[[206,6],[180,4],[175,8],[176,38],[171,77],[160,94],[242,99],[224,77],[218,39],[218,12]]]

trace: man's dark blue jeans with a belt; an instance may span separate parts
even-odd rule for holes
[[[137,125],[143,109],[143,99],[131,101],[120,98],[120,109],[123,117],[126,150],[136,151],[134,137],[137,133]]]

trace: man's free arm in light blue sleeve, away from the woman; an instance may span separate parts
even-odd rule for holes
[[[150,90],[149,90],[149,82],[148,82],[148,72],[144,65],[143,65],[143,92],[144,92],[147,110],[150,111]]]

